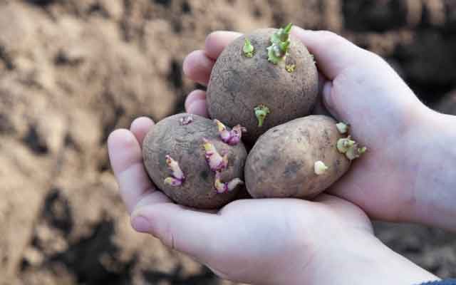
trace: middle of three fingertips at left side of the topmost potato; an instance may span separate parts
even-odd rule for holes
[[[204,51],[192,51],[184,60],[182,69],[185,75],[206,86],[209,82],[215,61],[208,58]]]

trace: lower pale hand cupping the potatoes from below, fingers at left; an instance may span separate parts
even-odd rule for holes
[[[385,247],[350,202],[321,195],[242,199],[219,212],[174,204],[142,165],[147,118],[108,139],[110,162],[133,227],[189,254],[219,276],[253,284],[418,284],[437,279]]]

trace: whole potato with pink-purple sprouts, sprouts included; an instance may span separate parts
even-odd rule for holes
[[[144,139],[147,173],[178,204],[217,209],[241,189],[247,152],[242,142],[229,137],[229,130],[224,134],[231,140],[224,142],[217,123],[198,115],[172,115],[154,125]]]

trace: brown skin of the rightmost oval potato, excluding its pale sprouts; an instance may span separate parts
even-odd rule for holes
[[[247,157],[244,177],[250,195],[310,199],[323,192],[350,167],[350,160],[336,148],[339,138],[344,137],[336,121],[325,115],[271,128]],[[314,172],[318,160],[329,167],[323,175]]]

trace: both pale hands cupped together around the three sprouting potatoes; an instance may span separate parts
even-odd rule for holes
[[[371,219],[456,230],[456,118],[425,107],[382,58],[329,31],[292,32],[314,55],[319,93],[337,120],[368,146],[326,194],[240,199],[218,212],[174,204],[150,181],[141,144],[154,124],[133,121],[108,138],[110,162],[133,228],[190,255],[224,279],[251,284],[419,284],[437,277],[388,249]],[[207,84],[239,33],[209,34],[183,65]],[[205,93],[187,113],[207,116]]]

